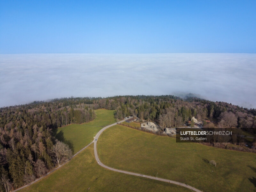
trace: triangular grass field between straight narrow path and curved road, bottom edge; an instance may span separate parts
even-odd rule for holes
[[[190,190],[161,181],[150,180],[107,170],[97,164],[93,153],[93,145],[91,145],[57,171],[20,191],[188,192]]]

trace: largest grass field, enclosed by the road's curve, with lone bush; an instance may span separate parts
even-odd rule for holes
[[[256,191],[254,153],[176,143],[174,138],[122,125],[104,131],[97,147],[101,162],[117,169],[154,176],[158,172],[158,177],[208,192]]]

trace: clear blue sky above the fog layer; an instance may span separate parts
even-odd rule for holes
[[[0,53],[256,52],[256,1],[0,0]]]

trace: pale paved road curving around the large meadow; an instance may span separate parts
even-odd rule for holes
[[[128,118],[129,119],[129,118]],[[121,123],[121,122],[124,122],[126,121],[127,119],[124,119],[122,121],[119,121],[118,123]],[[187,184],[184,184],[184,183],[180,183],[180,182],[177,182],[177,181],[173,181],[173,180],[168,180],[168,179],[162,179],[162,178],[159,178],[159,177],[153,177],[153,176],[148,176],[148,175],[143,175],[143,174],[140,174],[140,173],[133,173],[133,172],[128,172],[128,171],[123,171],[123,170],[118,170],[118,169],[114,169],[114,168],[111,168],[111,167],[108,167],[107,165],[104,165],[103,163],[101,163],[100,159],[99,159],[99,156],[98,156],[98,153],[97,153],[97,141],[96,139],[98,140],[99,139],[99,136],[100,134],[108,129],[109,127],[113,126],[113,125],[116,125],[117,123],[114,123],[114,124],[111,124],[111,125],[108,125],[104,128],[102,128],[96,135],[95,135],[95,138],[93,140],[94,142],[94,155],[95,155],[95,159],[96,161],[98,162],[98,164],[106,169],[109,169],[111,171],[116,171],[116,172],[120,172],[120,173],[125,173],[125,174],[129,174],[129,175],[135,175],[135,176],[139,176],[139,177],[146,177],[146,178],[149,178],[149,179],[154,179],[154,180],[160,180],[160,181],[164,181],[164,182],[167,182],[167,183],[172,183],[172,184],[175,184],[175,185],[180,185],[182,187],[186,187],[186,188],[189,188],[193,191],[196,191],[196,192],[202,192],[200,191],[199,189],[196,189],[190,185],[187,185]]]

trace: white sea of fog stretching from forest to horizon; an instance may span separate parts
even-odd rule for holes
[[[2,54],[0,107],[61,97],[194,93],[256,108],[256,54]]]

